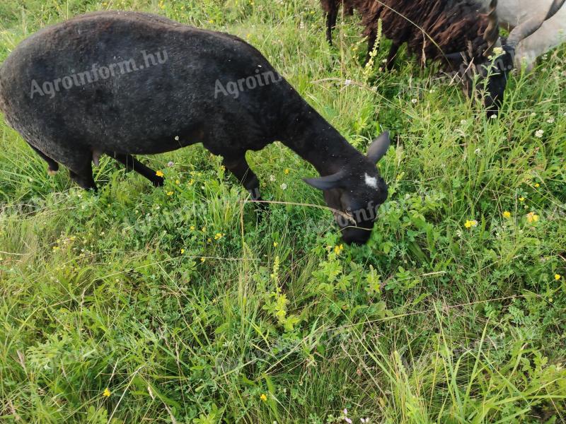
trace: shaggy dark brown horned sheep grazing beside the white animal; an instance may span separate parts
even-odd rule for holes
[[[321,0],[325,11],[332,10],[330,2],[332,0]],[[335,0],[335,8],[341,3]],[[393,67],[398,49],[405,43],[408,52],[423,65],[427,61],[439,61],[446,71],[459,71],[467,77],[471,69],[469,65],[473,64],[474,71],[488,78],[489,95],[485,98],[485,107],[489,115],[497,114],[502,104],[507,76],[514,66],[516,45],[540,28],[563,3],[564,0],[554,0],[548,13],[541,13],[514,28],[507,43],[502,45],[497,0],[491,0],[489,11],[483,10],[481,0],[347,0],[347,6],[356,8],[362,16],[364,34],[368,37],[366,61],[374,50],[377,24],[381,19],[383,35],[392,42],[388,69]],[[327,38],[331,37],[331,29],[327,23]],[[490,56],[495,47],[502,47],[502,54],[497,66],[490,67]],[[470,80],[463,78],[469,95]]]

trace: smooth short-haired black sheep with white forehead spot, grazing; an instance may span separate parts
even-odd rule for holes
[[[345,242],[369,239],[387,197],[376,169],[387,134],[362,155],[257,49],[159,16],[90,13],[40,30],[2,64],[0,110],[51,171],[62,163],[84,189],[96,190],[103,153],[158,186],[132,154],[202,143],[260,199],[246,151],[279,140],[322,175],[306,182],[337,211]]]

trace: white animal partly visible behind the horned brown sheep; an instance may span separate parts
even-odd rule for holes
[[[491,0],[482,0],[488,8]],[[556,4],[560,5],[560,1]],[[530,18],[545,15],[553,0],[499,0],[497,18],[504,28],[512,29],[525,23]],[[519,42],[515,52],[515,66],[527,71],[533,69],[537,57],[566,41],[566,3],[550,19],[545,20],[541,28]]]

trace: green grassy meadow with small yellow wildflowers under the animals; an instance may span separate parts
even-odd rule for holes
[[[404,56],[364,70],[355,16],[330,49],[315,0],[7,0],[0,60],[105,8],[245,38],[362,151],[389,129],[390,196],[341,248],[279,143],[249,160],[290,204],[258,221],[202,146],[142,159],[161,189],[105,158],[95,195],[1,120],[0,421],[566,422],[565,49],[490,122]]]

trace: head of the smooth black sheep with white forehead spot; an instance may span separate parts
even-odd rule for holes
[[[377,218],[377,209],[387,199],[387,185],[376,163],[390,146],[384,132],[368,148],[367,155],[333,175],[304,181],[323,190],[326,204],[333,208],[335,221],[348,245],[363,245],[369,240]]]

